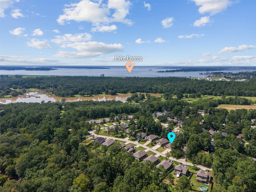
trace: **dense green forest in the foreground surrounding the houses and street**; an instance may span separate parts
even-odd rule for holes
[[[147,94],[137,104],[114,100],[1,104],[0,191],[166,192],[169,188],[187,191],[191,187],[188,180],[181,177],[174,185],[172,174],[153,163],[138,162],[118,143],[110,147],[84,145],[88,131],[95,128],[88,122],[92,118],[119,121],[133,114],[129,122],[131,130],[164,138],[174,124],[170,121],[168,128],[163,128],[160,122],[179,118],[183,122],[182,131],[174,140],[170,155],[175,158],[185,155],[194,164],[212,166],[214,192],[255,192],[256,163],[248,156],[256,156],[256,130],[250,128],[256,110],[228,112],[214,108],[214,100],[188,103],[170,95],[164,94],[166,100],[162,101]],[[140,96],[132,95],[132,99],[136,97]],[[217,102],[239,100],[239,97],[223,97]],[[170,113],[159,116],[160,122],[156,122],[152,113],[159,111]],[[210,129],[218,133],[211,136],[203,131]],[[122,128],[117,126],[112,134],[120,132]],[[236,138],[240,133],[244,134],[244,140]],[[170,182],[163,182],[164,179]]]

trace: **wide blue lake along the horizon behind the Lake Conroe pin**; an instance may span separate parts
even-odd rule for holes
[[[0,70],[3,75],[56,75],[56,76],[100,76],[104,74],[107,77],[206,77],[200,73],[207,71],[191,71],[191,72],[170,72],[158,73],[157,71],[170,70],[165,68],[139,67],[134,66],[132,72],[129,73],[125,67],[110,67],[109,69],[77,69],[77,68],[56,68],[50,71],[26,71],[26,70]],[[246,72],[252,70],[226,70],[223,72]],[[218,71],[219,72],[219,71]]]

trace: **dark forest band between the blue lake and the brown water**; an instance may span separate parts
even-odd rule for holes
[[[10,90],[13,88],[14,90]],[[248,82],[192,80],[190,78],[120,78],[54,76],[37,78],[0,78],[0,96],[22,94],[24,89],[44,89],[56,96],[91,96],[116,93],[171,93],[214,96],[256,96],[256,77]],[[17,91],[16,89],[19,89]]]

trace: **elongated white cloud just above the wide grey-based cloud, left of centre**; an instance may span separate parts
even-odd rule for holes
[[[81,42],[81,41],[88,41],[92,38],[92,35],[89,33],[76,33],[72,34],[64,34],[63,36],[55,36],[55,39],[52,39],[52,42],[57,44],[63,43],[71,43],[71,42]]]

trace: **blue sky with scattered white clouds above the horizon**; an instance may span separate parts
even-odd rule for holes
[[[256,66],[255,10],[255,0],[0,0],[0,64]]]

